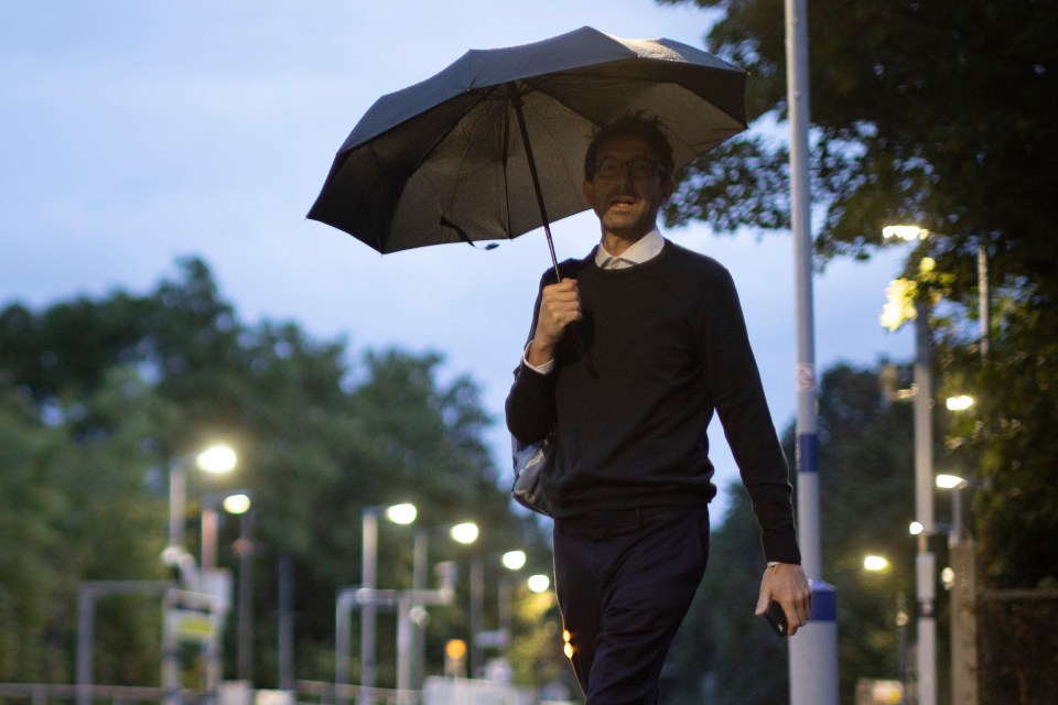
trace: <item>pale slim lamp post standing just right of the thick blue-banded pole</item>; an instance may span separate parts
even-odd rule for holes
[[[918,598],[918,705],[937,704],[937,621],[933,617],[937,564],[929,550],[933,535],[933,423],[930,413],[929,304],[915,302],[915,520],[921,524],[915,558]]]

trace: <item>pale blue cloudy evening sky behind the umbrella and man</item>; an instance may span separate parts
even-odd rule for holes
[[[708,23],[691,6],[651,0],[4,0],[0,305],[145,292],[196,254],[248,323],[343,336],[354,361],[391,345],[443,354],[444,375],[481,384],[506,469],[503,400],[549,263],[542,234],[488,252],[452,245],[382,258],[305,213],[371,102],[467,48],[583,25],[701,46]],[[552,230],[560,259],[598,238],[590,214]],[[667,235],[731,269],[781,431],[795,413],[789,234]],[[910,357],[909,332],[877,322],[905,253],[835,262],[817,278],[819,369]],[[736,478],[728,454],[714,462],[721,486]]]

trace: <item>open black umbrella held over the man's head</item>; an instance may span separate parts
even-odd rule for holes
[[[543,227],[554,264],[551,220],[589,208],[583,159],[593,130],[656,115],[680,169],[746,128],[745,77],[680,42],[589,26],[472,50],[371,106],[309,218],[382,253]]]

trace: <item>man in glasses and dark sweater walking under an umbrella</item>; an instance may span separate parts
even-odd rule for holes
[[[669,646],[709,556],[705,429],[715,411],[738,463],[768,567],[756,612],[809,617],[788,467],[727,271],[665,239],[672,150],[656,119],[604,128],[584,196],[602,241],[544,275],[507,399],[522,443],[547,436],[555,592],[590,705],[657,703]]]

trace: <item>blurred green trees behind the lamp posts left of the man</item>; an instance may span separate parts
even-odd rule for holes
[[[259,686],[278,677],[280,556],[294,566],[298,677],[333,679],[335,598],[361,581],[367,506],[413,501],[425,525],[474,519],[475,551],[543,558],[535,524],[510,513],[498,486],[473,380],[440,383],[434,354],[367,351],[359,366],[347,355],[342,340],[313,340],[294,324],[241,323],[197,259],[148,295],[0,311],[0,681],[72,681],[82,582],[166,576],[166,468],[218,440],[239,465],[223,479],[188,473],[186,541],[196,554],[205,496],[251,491]],[[239,521],[223,521],[218,558],[235,571]],[[410,533],[379,533],[379,585],[411,587]],[[435,544],[431,558],[445,557],[464,562],[466,604],[468,554]],[[96,682],[155,683],[156,598],[97,609]],[[465,631],[458,606],[431,612],[432,630]],[[229,676],[234,632],[233,619]],[[430,638],[428,673],[440,670]],[[380,630],[379,664],[393,654],[392,630]]]

